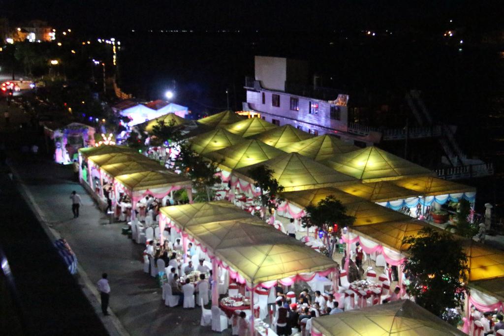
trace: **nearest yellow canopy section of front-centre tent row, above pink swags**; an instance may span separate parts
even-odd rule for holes
[[[324,254],[284,236],[283,241],[220,248],[214,253],[252,284],[338,266]]]

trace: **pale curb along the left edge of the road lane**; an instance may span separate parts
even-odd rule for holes
[[[60,239],[61,235],[57,230],[53,229],[50,224],[48,224],[48,221],[44,218],[44,212],[40,209],[40,207],[36,203],[30,190],[28,189],[23,179],[21,178],[21,175],[19,175],[16,168],[12,164],[8,163],[8,165],[9,168],[11,169],[11,172],[14,175],[15,179],[14,182],[16,181],[18,182],[15,183],[16,189],[25,199],[26,203],[28,204],[28,207],[30,207],[31,211],[37,218],[37,221],[40,223],[42,229],[45,231],[49,239],[51,239],[51,241]],[[121,321],[119,320],[119,318],[117,318],[117,316],[114,314],[114,312],[110,307],[109,307],[110,315],[107,317],[102,315],[100,305],[100,294],[98,293],[96,286],[93,284],[87,273],[79,264],[77,265],[77,269],[78,269],[76,277],[77,282],[81,286],[82,292],[95,309],[96,315],[101,320],[107,332],[113,336],[115,335],[129,336],[130,333],[124,328]]]

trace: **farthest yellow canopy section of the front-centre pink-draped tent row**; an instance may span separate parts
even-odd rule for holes
[[[218,221],[253,218],[252,215],[227,201],[163,207],[160,211],[167,218],[171,219],[179,228]]]

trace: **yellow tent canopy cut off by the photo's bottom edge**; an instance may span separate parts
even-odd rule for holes
[[[465,335],[410,300],[399,300],[312,320],[324,336]]]

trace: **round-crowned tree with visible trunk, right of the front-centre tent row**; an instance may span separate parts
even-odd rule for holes
[[[304,212],[306,215],[301,218],[301,225],[306,228],[314,226],[324,232],[328,255],[332,255],[333,249],[329,239],[329,228],[334,224],[337,224],[339,228],[350,227],[355,222],[355,217],[347,215],[346,207],[333,195],[321,199],[316,206],[310,204]],[[332,235],[336,237],[338,231],[333,230]]]

